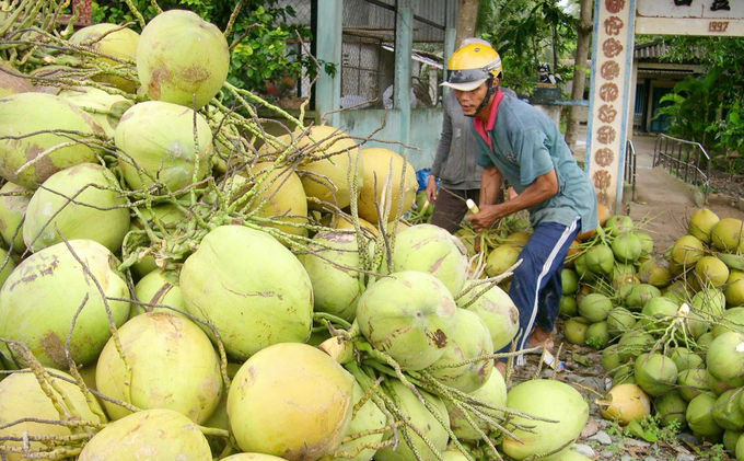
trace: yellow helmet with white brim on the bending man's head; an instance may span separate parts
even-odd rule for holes
[[[446,70],[446,81],[442,85],[473,91],[489,78],[500,78],[501,58],[490,46],[473,43],[452,54]]]

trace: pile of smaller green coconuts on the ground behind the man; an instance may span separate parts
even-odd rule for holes
[[[566,339],[602,350],[612,389],[602,414],[655,415],[744,459],[744,223],[695,211],[663,255],[612,216],[567,258]]]

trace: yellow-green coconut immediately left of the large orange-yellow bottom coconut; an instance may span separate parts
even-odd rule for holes
[[[170,312],[148,312],[118,332],[126,362],[109,339],[98,358],[98,391],[138,408],[167,408],[204,424],[222,395],[220,358],[194,322]],[[184,360],[184,357],[188,357]],[[130,412],[104,402],[113,419]]]

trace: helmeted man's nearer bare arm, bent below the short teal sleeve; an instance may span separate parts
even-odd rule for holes
[[[490,169],[489,169],[490,170]],[[497,170],[498,171],[498,170]],[[501,173],[499,173],[500,176]],[[486,170],[484,170],[484,178]],[[498,184],[497,184],[498,187]],[[484,193],[484,180],[480,183],[480,193]],[[476,231],[490,228],[497,219],[503,218],[516,211],[527,209],[532,206],[540,204],[558,193],[558,177],[556,171],[539,175],[530,184],[520,195],[499,205],[491,205],[480,199],[480,211],[475,215],[469,215],[467,219],[473,222],[473,228]]]

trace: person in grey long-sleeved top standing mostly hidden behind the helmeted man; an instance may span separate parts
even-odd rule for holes
[[[461,47],[473,44],[490,47],[483,38],[465,38]],[[513,90],[502,91],[516,97]],[[483,171],[476,163],[476,140],[470,118],[463,115],[454,91],[447,93],[443,108],[442,132],[426,191],[427,199],[434,205],[430,223],[455,233],[467,214],[466,200],[479,203]],[[437,178],[440,181],[439,193]]]

